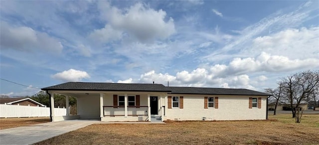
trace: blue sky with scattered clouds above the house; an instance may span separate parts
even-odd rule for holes
[[[319,0],[0,1],[1,95],[70,81],[263,92],[318,69]]]

